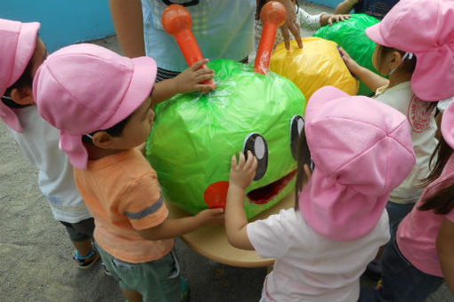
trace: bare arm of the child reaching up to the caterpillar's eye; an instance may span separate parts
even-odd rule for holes
[[[239,163],[235,155],[231,157],[231,176],[225,205],[225,231],[232,246],[243,250],[254,250],[247,237],[247,219],[244,211],[244,191],[251,184],[257,169],[257,159],[247,151],[247,161],[239,153]]]

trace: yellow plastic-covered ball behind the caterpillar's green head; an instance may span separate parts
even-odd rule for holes
[[[337,44],[318,37],[303,38],[303,49],[292,41],[289,52],[279,44],[272,53],[271,69],[296,83],[307,99],[327,85],[351,95],[358,92],[358,81],[345,66]]]

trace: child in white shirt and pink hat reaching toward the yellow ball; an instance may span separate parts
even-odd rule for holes
[[[422,194],[423,188],[420,187],[419,180],[425,179],[430,172],[429,161],[437,144],[435,139],[437,128],[434,118],[436,103],[429,101],[446,99],[450,97],[446,94],[450,93],[449,91],[454,94],[454,90],[449,87],[452,85],[447,84],[454,81],[454,75],[451,75],[451,79],[448,77],[450,76],[448,71],[451,70],[452,73],[454,64],[451,63],[451,69],[444,69],[442,64],[445,63],[436,58],[438,55],[436,53],[442,53],[442,49],[437,50],[439,45],[448,44],[447,37],[433,36],[434,30],[438,27],[433,20],[436,19],[438,5],[443,1],[435,0],[426,5],[425,0],[403,0],[394,6],[384,20],[366,30],[369,38],[377,43],[372,58],[374,67],[380,74],[389,76],[389,80],[367,68],[362,68],[341,49],[350,71],[370,89],[377,91],[375,98],[378,101],[407,115],[411,128],[417,163],[409,177],[393,191],[389,203],[386,204],[392,235],[395,234],[401,219],[411,211]],[[451,0],[449,2],[450,4],[444,5],[446,9],[453,4]],[[414,9],[413,6],[419,8]],[[448,22],[448,19],[445,20]],[[421,30],[413,26],[418,23],[426,24],[426,29]],[[432,64],[433,70],[438,69],[447,77],[427,72],[428,68],[432,68]],[[443,69],[447,71],[443,72]]]

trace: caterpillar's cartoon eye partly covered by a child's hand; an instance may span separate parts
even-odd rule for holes
[[[263,179],[268,169],[268,144],[263,136],[259,133],[251,133],[244,141],[243,153],[247,159],[247,151],[257,158],[257,170],[255,170],[254,180]]]

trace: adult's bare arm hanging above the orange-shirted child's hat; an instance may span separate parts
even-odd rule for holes
[[[145,56],[141,0],[109,0],[118,41],[126,57]]]

